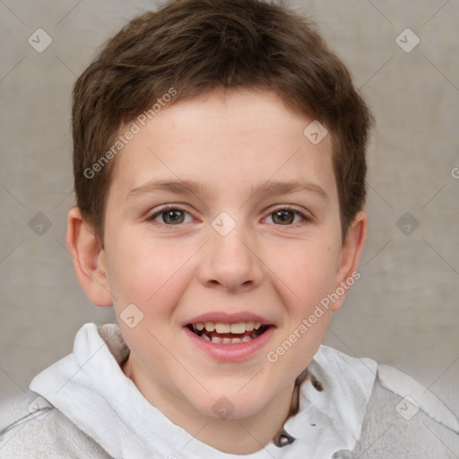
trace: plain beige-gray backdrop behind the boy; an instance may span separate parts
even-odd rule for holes
[[[459,413],[459,2],[285,3],[319,22],[377,117],[362,277],[325,343],[403,369]],[[154,6],[0,1],[0,399],[72,351],[82,324],[115,321],[86,299],[65,248],[70,94],[96,48]],[[53,40],[42,53],[28,43],[39,28]],[[410,53],[395,42],[406,28],[420,38]],[[42,235],[30,229],[39,212]],[[405,212],[420,225],[410,235]]]

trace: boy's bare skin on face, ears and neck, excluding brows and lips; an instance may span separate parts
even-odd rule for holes
[[[294,380],[344,296],[277,361],[266,354],[352,277],[365,242],[363,211],[342,242],[330,135],[309,142],[303,131],[311,121],[261,89],[212,91],[178,102],[118,153],[104,247],[78,208],[68,214],[67,245],[82,288],[95,305],[115,307],[131,350],[122,366],[126,377],[169,420],[225,453],[253,453],[281,429]],[[156,191],[127,198],[134,188],[166,178],[199,181],[212,194]],[[251,193],[268,179],[307,181],[327,197],[311,190]],[[162,204],[185,211],[178,223],[161,213],[148,220]],[[282,221],[277,205],[291,205],[308,220],[287,212]],[[212,228],[221,212],[236,222],[224,237]],[[143,312],[134,328],[119,319],[131,303]],[[275,325],[273,336],[244,361],[212,359],[190,343],[182,325],[214,311],[264,316]],[[224,420],[212,409],[222,396],[234,405]]]

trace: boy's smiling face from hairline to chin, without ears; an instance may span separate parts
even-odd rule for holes
[[[268,91],[213,91],[162,108],[119,153],[108,288],[153,399],[215,417],[224,396],[247,417],[316,353],[342,299],[308,317],[344,279],[331,142],[307,139],[312,121]]]

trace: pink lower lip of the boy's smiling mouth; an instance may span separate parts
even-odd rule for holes
[[[273,325],[270,326],[264,333],[249,342],[235,342],[234,344],[217,344],[216,342],[206,341],[193,333],[187,327],[183,330],[186,336],[195,343],[196,347],[210,355],[213,359],[221,361],[235,361],[248,359],[260,351],[264,345],[271,339],[274,333]]]

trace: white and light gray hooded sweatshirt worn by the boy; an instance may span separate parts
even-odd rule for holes
[[[83,325],[71,354],[0,406],[0,459],[459,458],[459,420],[436,395],[327,346],[284,435],[250,455],[222,453],[148,403],[120,368],[128,351],[117,325]]]

